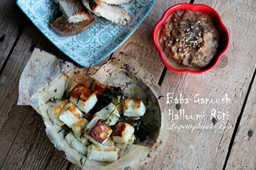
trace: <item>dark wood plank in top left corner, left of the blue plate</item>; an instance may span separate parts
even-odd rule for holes
[[[13,0],[0,1],[0,68],[8,58],[19,32],[23,29],[24,15],[18,10],[15,2]]]

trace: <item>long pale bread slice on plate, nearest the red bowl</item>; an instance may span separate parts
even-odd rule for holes
[[[98,17],[104,17],[112,22],[127,26],[132,21],[129,15],[122,7],[109,5],[98,0],[82,0],[83,5]]]

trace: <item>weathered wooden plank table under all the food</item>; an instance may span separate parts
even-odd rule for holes
[[[163,12],[189,1],[157,0],[139,29],[114,54],[125,52],[145,63],[162,93],[219,99],[230,104],[181,104],[187,114],[205,110],[200,123],[215,122],[210,111],[228,111],[231,125],[223,130],[168,130],[167,143],[152,162],[140,169],[256,169],[256,1],[190,1],[216,9],[230,32],[230,46],[218,66],[203,75],[175,74],[162,64],[152,31]],[[1,169],[78,169],[48,140],[41,117],[29,106],[17,106],[18,82],[34,47],[63,57],[18,9],[13,0],[0,1],[0,167]],[[166,99],[167,100],[167,99]],[[175,109],[166,104],[165,109]],[[190,120],[179,120],[187,124]]]

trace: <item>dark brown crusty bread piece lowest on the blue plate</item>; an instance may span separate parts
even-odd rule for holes
[[[87,30],[94,22],[95,19],[90,17],[90,19],[78,23],[69,23],[64,16],[61,16],[51,23],[51,27],[59,35],[67,37]]]

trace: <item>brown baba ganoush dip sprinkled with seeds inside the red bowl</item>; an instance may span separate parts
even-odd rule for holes
[[[205,68],[218,53],[218,31],[202,12],[176,11],[165,22],[159,38],[165,56],[183,68]]]

